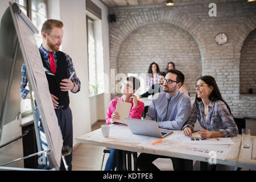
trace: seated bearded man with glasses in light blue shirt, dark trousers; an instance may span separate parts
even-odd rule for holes
[[[184,82],[184,75],[177,69],[170,69],[163,79],[163,92],[155,94],[148,108],[145,119],[158,122],[158,126],[182,130],[187,123],[191,110],[191,100],[187,94],[179,91]],[[166,156],[141,154],[138,158],[138,168],[144,170],[159,170],[152,162],[158,158],[170,158]],[[174,170],[184,170],[185,159],[172,158]]]

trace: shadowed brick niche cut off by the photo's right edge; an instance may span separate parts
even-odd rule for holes
[[[256,94],[256,30],[243,43],[240,61],[240,93],[248,94],[249,89]]]

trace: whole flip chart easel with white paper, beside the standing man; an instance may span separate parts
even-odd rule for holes
[[[21,65],[25,63],[30,91],[33,90],[35,93],[35,99],[39,107],[48,148],[42,150],[40,147],[35,110],[32,109],[38,152],[5,164],[0,164],[0,169],[14,169],[5,166],[39,154],[45,154],[47,156],[49,167],[51,169],[59,170],[60,168],[63,139],[53,105],[49,105],[49,103],[52,102],[51,95],[49,93],[48,82],[35,40],[35,34],[38,34],[38,32],[39,31],[34,24],[32,24],[31,20],[19,9],[19,6],[16,3],[10,2],[9,8],[7,8],[5,14],[2,16],[0,26],[0,64],[2,65],[1,71],[3,71],[1,75],[2,77],[0,77],[0,141],[3,133],[3,126],[14,121],[19,114],[20,70]],[[31,105],[32,108],[34,108],[34,101],[31,93],[32,92],[30,92]],[[20,169],[24,170],[27,168]]]

